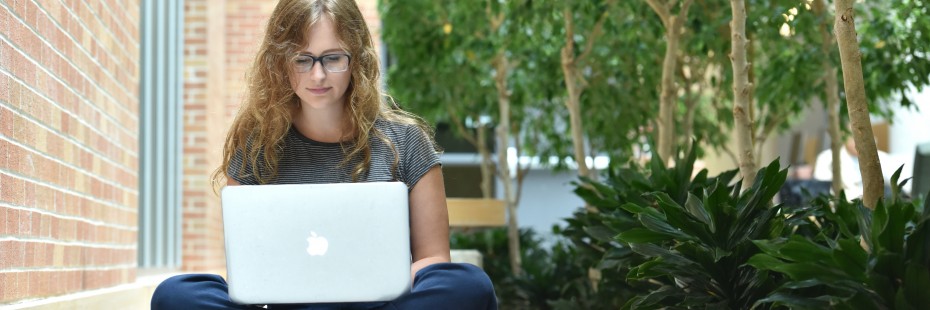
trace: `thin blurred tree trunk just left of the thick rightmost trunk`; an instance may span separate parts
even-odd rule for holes
[[[837,198],[843,190],[843,173],[840,163],[840,148],[843,147],[843,137],[840,135],[840,87],[836,79],[836,68],[830,59],[833,51],[833,37],[827,29],[829,13],[824,0],[814,1],[814,12],[821,19],[820,23],[820,50],[823,52],[823,80],[827,92],[827,132],[830,134],[830,155],[833,173],[831,181],[833,193]]]

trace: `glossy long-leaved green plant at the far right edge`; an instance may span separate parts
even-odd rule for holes
[[[755,241],[763,253],[749,265],[787,279],[759,304],[839,309],[930,304],[930,200],[921,207],[895,196],[873,211],[861,200],[819,199],[806,215],[789,225],[797,234]]]

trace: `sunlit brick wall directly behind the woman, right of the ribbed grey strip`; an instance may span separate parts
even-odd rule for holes
[[[245,72],[276,1],[188,0],[184,49],[184,269],[225,268],[219,198],[209,184],[242,102]],[[377,0],[359,7],[380,46]]]

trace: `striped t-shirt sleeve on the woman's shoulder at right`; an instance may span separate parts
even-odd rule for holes
[[[408,189],[413,189],[426,172],[441,163],[439,153],[426,132],[417,126],[406,127],[406,137],[403,145],[400,145],[400,179],[407,184]]]

